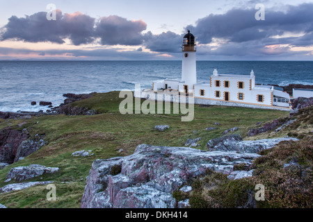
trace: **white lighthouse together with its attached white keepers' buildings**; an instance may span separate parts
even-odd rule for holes
[[[182,79],[155,80],[152,90],[158,94],[186,94],[194,96],[195,103],[211,105],[244,106],[289,110],[290,96],[280,87],[255,84],[253,70],[250,75],[218,74],[214,69],[209,81],[197,82],[195,37],[188,31],[182,44]]]

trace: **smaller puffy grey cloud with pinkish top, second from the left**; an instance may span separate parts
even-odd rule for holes
[[[129,21],[116,15],[102,17],[95,28],[95,35],[101,37],[103,45],[138,45],[143,42],[142,31],[145,31],[145,22]]]

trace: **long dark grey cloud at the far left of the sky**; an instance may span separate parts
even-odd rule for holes
[[[38,12],[31,16],[10,17],[4,26],[1,40],[24,40],[25,42],[54,42],[62,44],[68,37],[74,45],[93,42],[93,24],[95,19],[79,12],[63,15],[56,10],[56,20],[47,20],[47,12]]]

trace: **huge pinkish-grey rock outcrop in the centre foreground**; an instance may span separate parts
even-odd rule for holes
[[[132,155],[93,162],[81,207],[174,207],[172,192],[206,169],[229,174],[259,156],[141,144]]]

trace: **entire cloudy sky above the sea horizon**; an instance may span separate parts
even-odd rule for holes
[[[0,0],[0,12],[0,60],[180,60],[187,29],[198,60],[313,60],[313,1]]]

